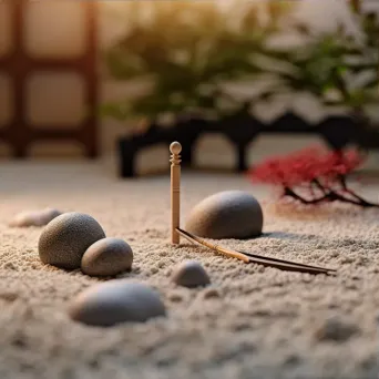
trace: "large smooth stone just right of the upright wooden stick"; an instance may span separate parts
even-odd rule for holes
[[[191,212],[186,231],[199,237],[252,238],[262,234],[263,212],[247,192],[224,191],[206,197]]]

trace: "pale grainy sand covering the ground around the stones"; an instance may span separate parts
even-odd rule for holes
[[[379,209],[275,213],[265,206],[256,240],[224,245],[338,267],[314,277],[215,256],[167,242],[168,178],[115,181],[86,164],[0,166],[0,378],[351,378],[377,377],[379,339]],[[184,174],[183,215],[206,195],[269,193],[237,175]],[[377,187],[366,195],[378,199]],[[124,275],[156,287],[166,319],[110,329],[68,319],[68,301],[96,283],[80,272],[43,266],[41,229],[7,226],[18,212],[45,206],[94,216],[135,254]],[[185,218],[185,217],[184,217]],[[183,259],[198,259],[207,289],[170,283]]]

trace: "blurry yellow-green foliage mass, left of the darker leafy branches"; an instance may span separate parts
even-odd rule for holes
[[[148,7],[150,21],[141,21]],[[144,1],[129,8],[129,31],[104,52],[104,61],[113,79],[147,76],[154,85],[133,101],[102,107],[103,114],[117,120],[132,114],[154,119],[187,111],[219,113],[219,83],[258,72],[249,55],[265,49],[288,6],[269,4],[272,22],[266,27],[259,24],[254,3],[245,3],[243,14],[226,12],[216,2]],[[235,25],[232,21],[237,19]]]

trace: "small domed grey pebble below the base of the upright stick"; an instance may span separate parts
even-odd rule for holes
[[[208,274],[196,260],[185,260],[177,265],[173,272],[172,280],[184,287],[204,287],[211,284]]]

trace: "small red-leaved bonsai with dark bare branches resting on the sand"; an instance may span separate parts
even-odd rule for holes
[[[303,204],[345,202],[362,207],[379,207],[358,196],[347,185],[347,175],[363,162],[356,150],[306,148],[272,157],[249,171],[253,182],[281,187],[281,196]]]

